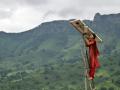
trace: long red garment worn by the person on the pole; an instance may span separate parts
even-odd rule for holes
[[[100,67],[100,63],[98,62],[99,51],[97,48],[96,40],[89,39],[89,43],[87,43],[87,47],[89,47],[89,76],[94,78],[95,69]]]

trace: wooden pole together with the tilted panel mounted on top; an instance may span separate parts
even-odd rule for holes
[[[92,34],[94,33],[89,27],[87,27],[85,25],[85,23],[83,23],[81,20],[73,20],[73,21],[70,21],[70,24],[72,24],[72,26],[74,28],[76,28],[76,30],[82,34],[84,33],[87,33],[87,34]],[[84,36],[83,37],[83,40],[84,40]],[[102,39],[98,37],[98,35],[96,35],[96,41],[97,42],[102,42]],[[85,40],[84,40],[85,41]],[[84,52],[83,52],[84,51]],[[88,71],[89,71],[89,58],[88,58],[88,54],[87,54],[87,48],[85,46],[85,43],[84,43],[84,49],[82,50],[81,49],[81,54],[82,54],[82,58],[83,58],[83,62],[84,62],[84,67],[85,67],[85,90],[88,89],[87,87],[87,84],[89,84],[89,89],[88,90],[95,90],[93,88],[95,88],[94,86],[94,81],[93,80],[88,80]]]

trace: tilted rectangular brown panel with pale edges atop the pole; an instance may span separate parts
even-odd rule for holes
[[[81,20],[73,20],[70,21],[70,23],[72,24],[73,27],[76,28],[77,31],[79,31],[81,34],[83,33],[87,33],[87,34],[91,34],[94,33],[88,26],[85,25],[84,22],[82,22]],[[96,35],[96,34],[95,34]],[[98,42],[102,42],[102,39],[96,35],[96,41]]]

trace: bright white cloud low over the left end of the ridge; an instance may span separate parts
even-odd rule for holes
[[[0,20],[0,29],[6,32],[29,30],[39,25],[41,16],[43,16],[43,14],[33,8],[18,8],[10,18]]]

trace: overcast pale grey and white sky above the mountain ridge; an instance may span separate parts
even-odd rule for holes
[[[120,13],[120,0],[0,0],[0,31],[23,32],[42,22]]]

